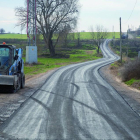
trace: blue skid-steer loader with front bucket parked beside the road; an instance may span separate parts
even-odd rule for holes
[[[23,49],[16,49],[13,45],[0,45],[0,92],[16,92],[24,88]]]

